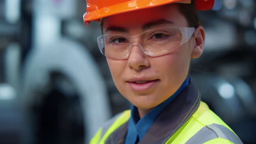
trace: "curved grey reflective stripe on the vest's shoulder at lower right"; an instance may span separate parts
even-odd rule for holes
[[[191,137],[185,144],[199,144],[221,137],[233,143],[243,143],[239,137],[228,128],[219,124],[206,125]]]

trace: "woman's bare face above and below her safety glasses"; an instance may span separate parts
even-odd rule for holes
[[[103,21],[103,33],[118,32],[133,36],[144,32],[143,26],[146,25],[148,29],[188,27],[187,20],[179,13],[178,5],[169,4],[106,17]],[[174,52],[150,57],[139,46],[132,46],[127,59],[107,58],[107,62],[119,92],[139,109],[152,109],[182,85],[188,75],[195,47],[196,40],[193,37]],[[197,52],[198,54],[201,55]]]

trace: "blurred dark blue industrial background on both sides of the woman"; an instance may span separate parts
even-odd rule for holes
[[[0,0],[0,143],[88,143],[130,104],[86,27],[81,0]],[[206,29],[192,79],[211,109],[256,142],[256,2],[216,0],[199,12]]]

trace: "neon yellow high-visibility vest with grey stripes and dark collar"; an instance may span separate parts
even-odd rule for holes
[[[171,105],[174,106],[167,107],[156,119],[139,144],[242,143],[234,131],[200,101],[194,84],[185,88],[173,103]],[[90,144],[124,143],[130,116],[131,111],[126,110],[110,119],[98,130]]]

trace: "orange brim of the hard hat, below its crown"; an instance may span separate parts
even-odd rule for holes
[[[104,7],[101,9],[97,9],[94,11],[90,11],[89,13],[84,14],[84,22],[89,23],[90,21],[100,20],[103,17],[121,14],[128,11],[145,9],[157,7],[160,5],[177,3],[184,0],[159,0],[159,1],[129,1],[125,3],[120,3],[116,5],[112,5],[110,7]],[[214,0],[197,0],[196,8],[197,10],[210,10],[213,8]]]

